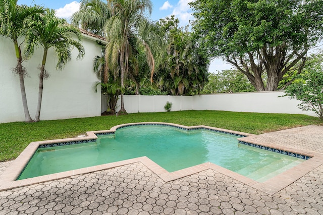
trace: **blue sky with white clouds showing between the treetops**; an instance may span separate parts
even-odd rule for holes
[[[175,15],[180,20],[180,25],[187,25],[189,20],[193,20],[192,10],[188,3],[194,0],[151,0],[153,10],[150,16],[152,21],[160,18]],[[73,0],[18,0],[19,5],[41,5],[46,8],[55,9],[56,15],[61,18],[69,19],[73,13],[79,10],[79,2]],[[209,72],[217,73],[225,69],[232,68],[222,59],[214,59],[209,66]]]

